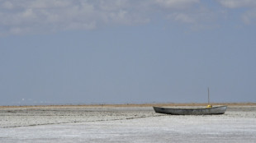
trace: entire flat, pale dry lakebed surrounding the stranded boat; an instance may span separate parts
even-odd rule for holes
[[[0,108],[0,142],[256,142],[256,105],[227,104],[225,114],[173,116],[125,104]]]

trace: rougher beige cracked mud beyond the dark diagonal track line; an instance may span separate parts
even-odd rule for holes
[[[171,106],[177,107],[177,106]],[[193,106],[195,108],[197,106]],[[187,108],[187,106],[178,106]],[[0,108],[0,127],[26,127],[72,122],[113,121],[163,116],[152,107],[38,106]],[[226,118],[256,118],[256,106],[228,106]]]

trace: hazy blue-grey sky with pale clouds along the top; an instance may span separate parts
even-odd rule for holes
[[[255,0],[0,0],[0,105],[256,102]]]

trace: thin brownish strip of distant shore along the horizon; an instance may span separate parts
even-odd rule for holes
[[[33,108],[33,107],[151,107],[151,106],[206,106],[207,104],[187,103],[187,104],[55,104],[55,105],[10,105],[0,106],[0,108]],[[256,103],[212,103],[211,105],[227,105],[227,106],[256,106]]]

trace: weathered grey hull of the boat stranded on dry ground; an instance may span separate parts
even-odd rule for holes
[[[225,113],[227,106],[217,106],[212,108],[153,108],[156,113],[166,113],[172,115],[214,115]]]

